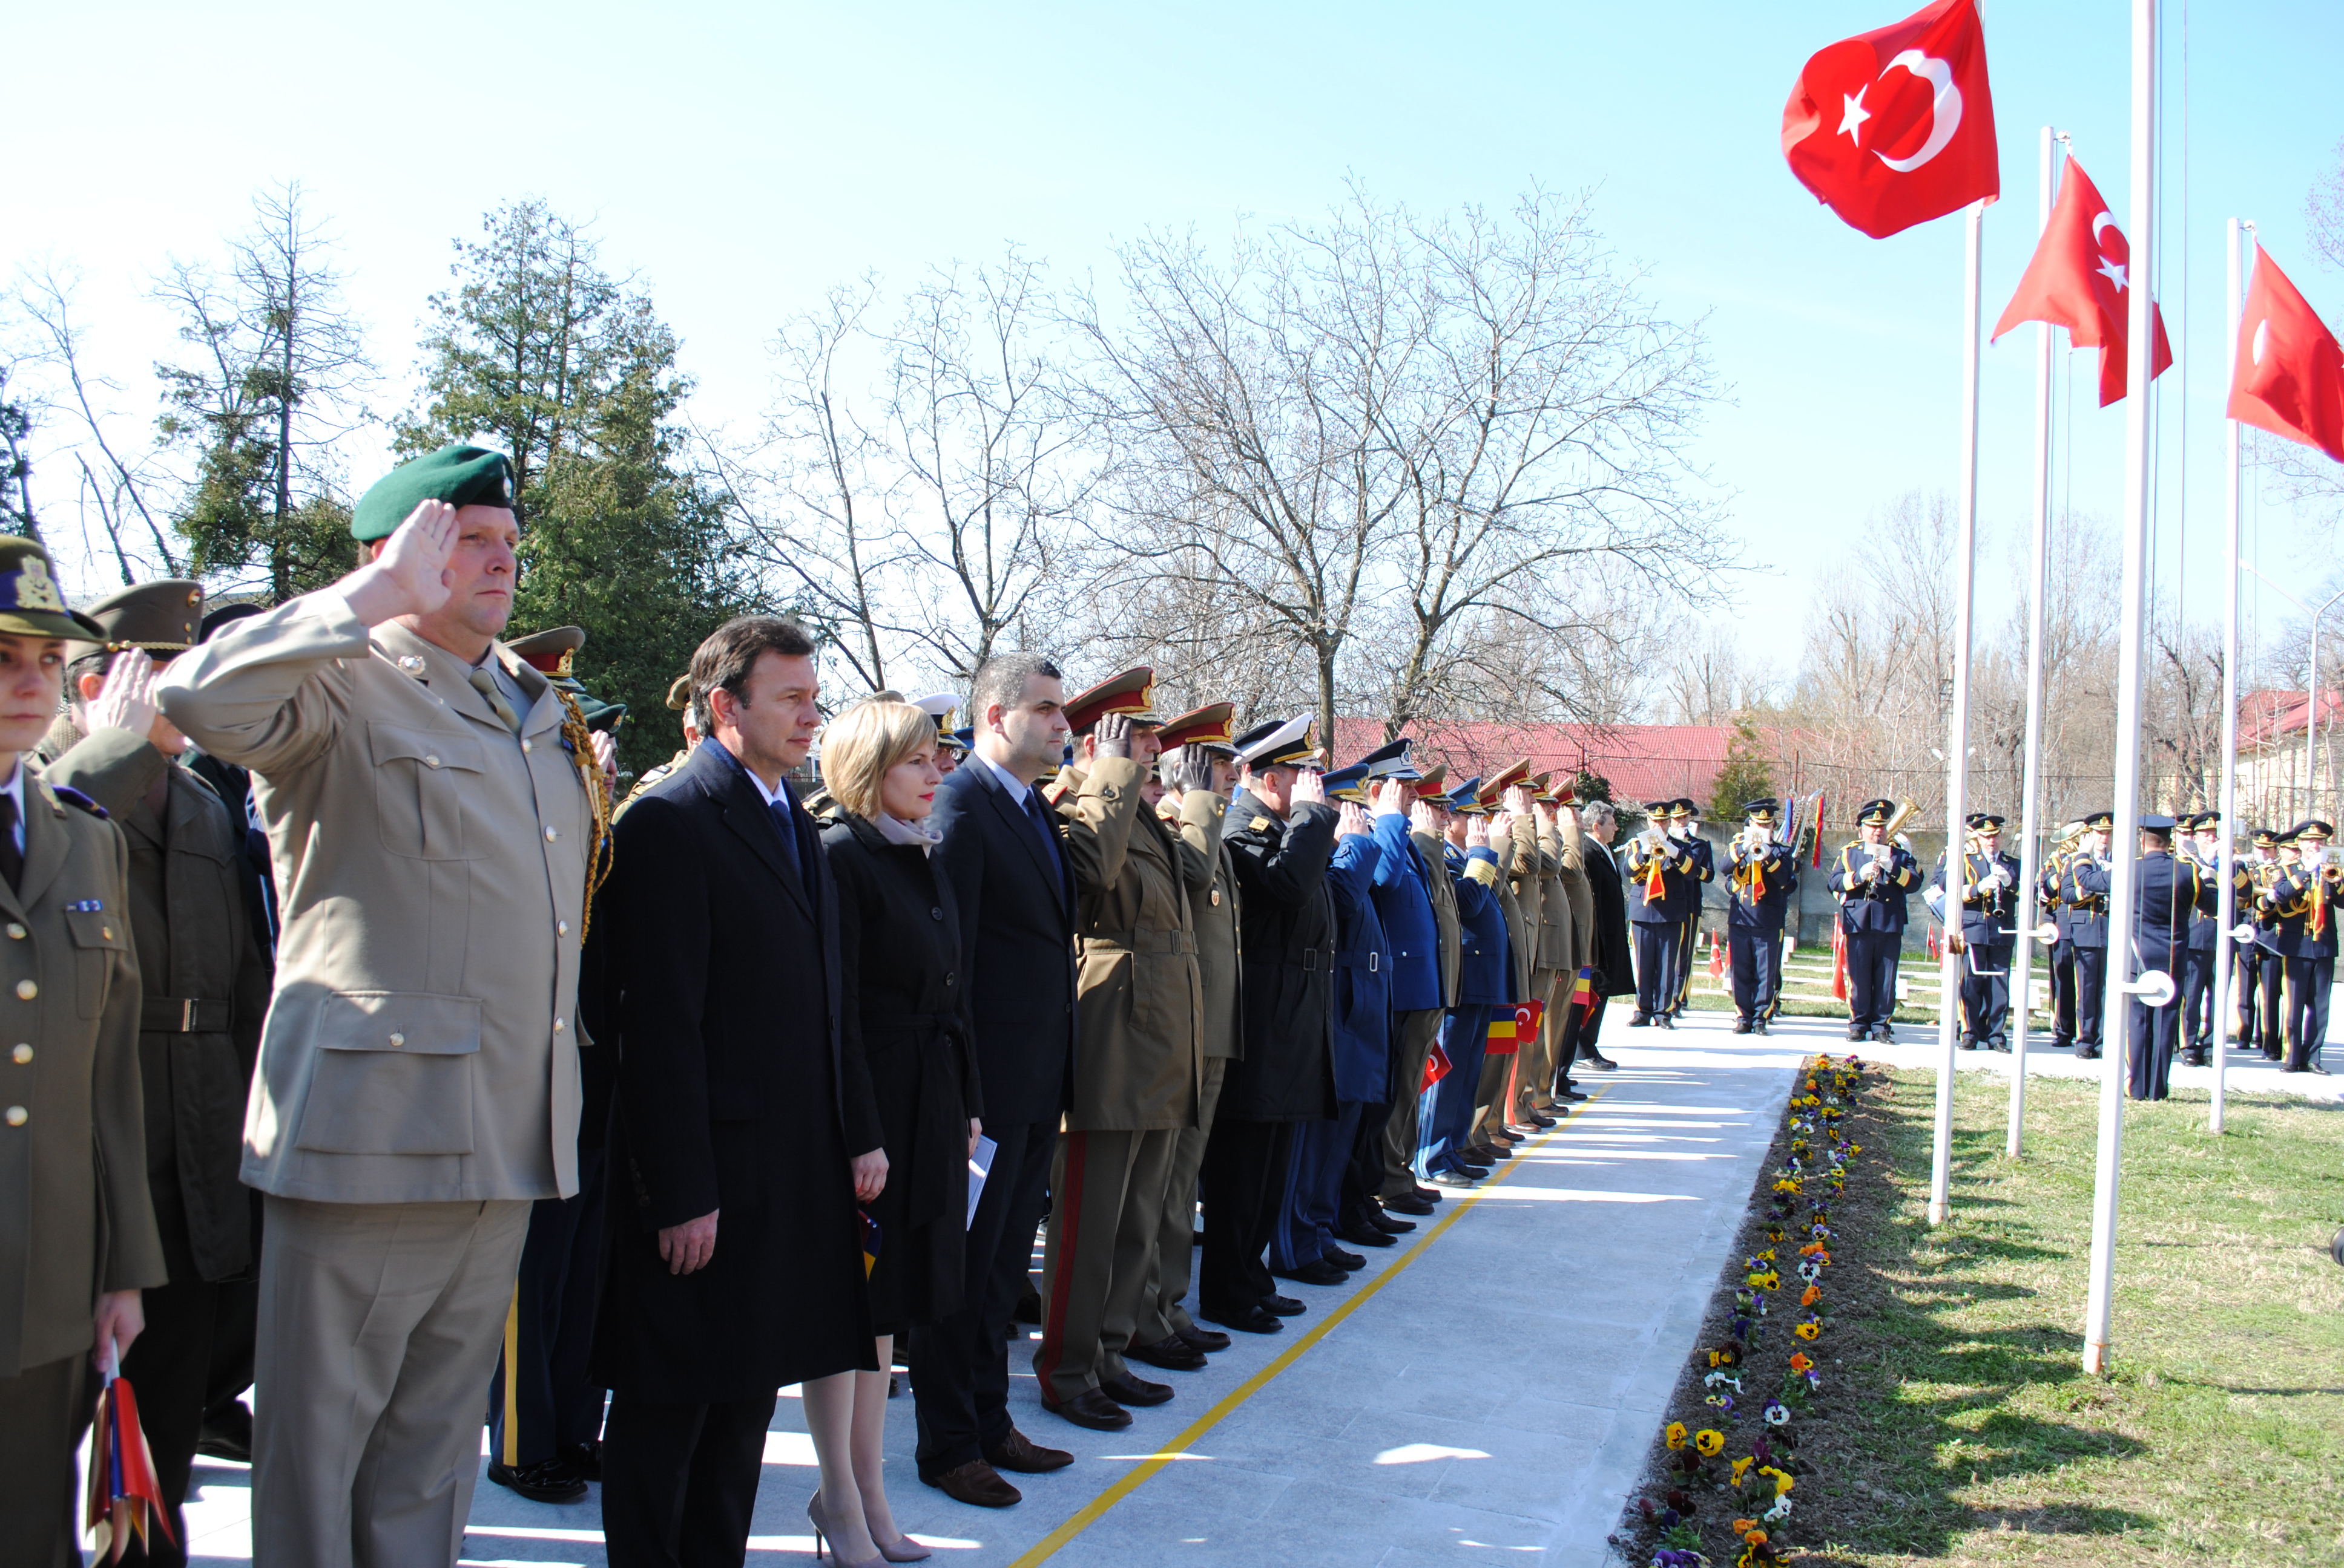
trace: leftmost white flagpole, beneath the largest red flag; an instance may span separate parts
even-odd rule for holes
[[[1969,265],[1962,295],[1962,537],[1953,609],[1953,722],[1946,736],[1946,947],[1938,954],[1936,1139],[1929,1148],[1929,1223],[1953,1212],[1953,1052],[1962,1034],[1962,895],[1969,891],[1969,602],[1978,565],[1978,274],[1985,202],[1969,206]]]

